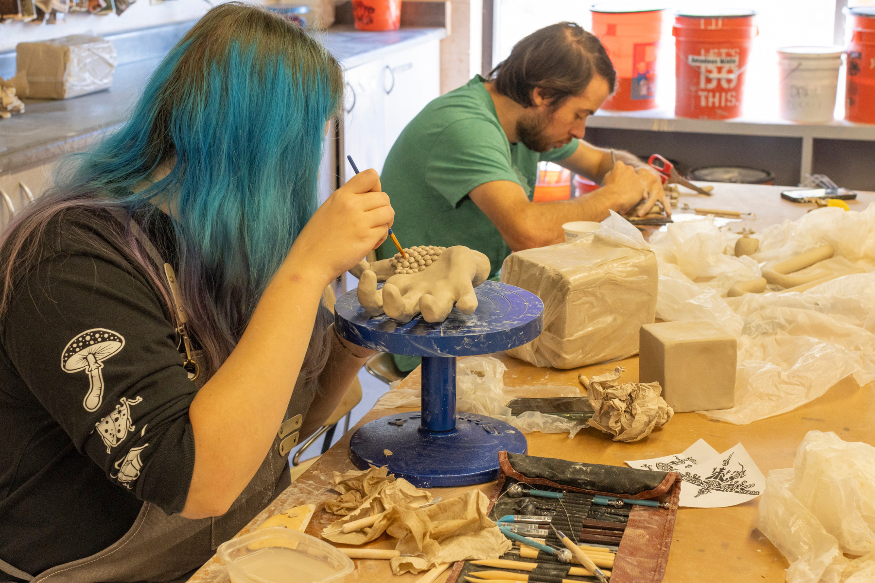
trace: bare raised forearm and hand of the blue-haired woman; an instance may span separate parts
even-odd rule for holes
[[[382,243],[394,216],[377,173],[366,170],[298,235],[235,350],[189,407],[195,458],[183,517],[224,514],[255,475],[283,421],[323,289]]]

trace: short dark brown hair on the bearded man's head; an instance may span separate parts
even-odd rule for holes
[[[550,24],[514,45],[491,73],[495,89],[524,108],[533,105],[532,91],[558,106],[580,94],[592,77],[604,77],[613,92],[617,72],[598,37],[573,22]]]

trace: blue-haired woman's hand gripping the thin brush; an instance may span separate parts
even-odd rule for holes
[[[380,188],[380,176],[369,169],[334,191],[297,235],[283,267],[303,269],[324,287],[380,246],[395,220]]]

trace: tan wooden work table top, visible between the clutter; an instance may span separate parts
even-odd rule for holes
[[[693,207],[701,205],[755,213],[755,217],[745,217],[739,223],[732,223],[732,231],[739,231],[742,226],[747,226],[759,232],[765,226],[784,219],[798,219],[814,207],[781,200],[779,193],[783,190],[782,187],[742,184],[715,186],[715,194],[711,198],[682,196],[681,201],[690,202]],[[852,210],[862,211],[870,202],[875,202],[875,194],[865,193],[857,201],[849,201],[849,205]],[[578,373],[583,372],[584,375],[592,377],[613,371],[615,366],[626,368],[621,381],[638,380],[638,357],[561,371],[537,368],[503,354],[493,356],[499,357],[507,365],[505,385],[530,386],[531,394],[528,396],[532,397],[543,396],[537,389],[538,386],[580,386],[577,381]],[[404,379],[399,388],[417,388],[419,380],[417,369]],[[346,455],[350,435],[368,421],[410,410],[372,409],[356,427],[293,482],[289,489],[255,517],[241,534],[254,530],[258,524],[279,511],[304,503],[315,503],[318,510],[306,532],[318,537],[318,533],[336,518],[322,509],[325,500],[337,496],[336,492],[329,489],[328,481],[332,472],[353,469],[353,464]],[[741,442],[763,474],[767,475],[773,469],[791,468],[796,448],[804,435],[812,430],[832,431],[845,441],[864,441],[875,446],[875,384],[860,387],[853,378],[844,378],[820,398],[790,413],[744,426],[709,420],[698,413],[679,413],[665,427],[656,429],[647,438],[635,443],[611,441],[609,435],[592,428],[581,431],[571,440],[567,434],[533,433],[528,434],[528,453],[574,462],[625,465],[626,460],[680,453],[701,438],[721,452]],[[493,488],[493,483],[464,488],[479,488],[488,492]],[[462,488],[435,489],[434,493],[446,498],[460,489]],[[678,510],[664,581],[783,581],[785,569],[788,567],[787,560],[756,528],[759,501],[758,497],[730,508]],[[395,540],[384,535],[368,546],[394,548]],[[393,576],[388,568],[388,561],[355,562],[356,570],[346,578],[347,581],[404,583],[419,577],[410,574]],[[437,581],[442,583],[445,579],[446,576],[442,575]],[[228,571],[214,557],[190,581],[226,583]]]

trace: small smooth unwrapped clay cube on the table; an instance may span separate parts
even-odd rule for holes
[[[738,346],[722,326],[707,321],[641,326],[638,380],[657,382],[675,413],[735,405]]]

